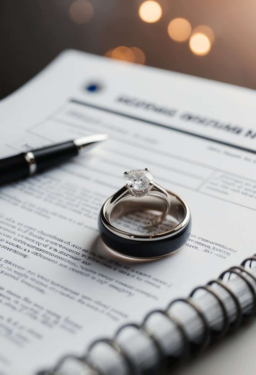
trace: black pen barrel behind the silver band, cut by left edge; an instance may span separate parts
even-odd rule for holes
[[[0,160],[0,185],[28,175],[29,164],[24,153]]]

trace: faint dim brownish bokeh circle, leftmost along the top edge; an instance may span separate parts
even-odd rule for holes
[[[92,4],[87,0],[75,0],[69,7],[69,16],[76,24],[84,24],[93,17]]]

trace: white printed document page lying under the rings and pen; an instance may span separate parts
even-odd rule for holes
[[[81,354],[253,253],[254,107],[252,90],[77,51],[1,102],[1,157],[110,138],[0,189],[0,374]],[[188,203],[191,237],[171,257],[126,261],[102,245],[97,217],[123,172],[145,167]]]

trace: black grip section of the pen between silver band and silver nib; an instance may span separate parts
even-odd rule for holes
[[[74,141],[32,150],[36,160],[36,171],[41,172],[70,159],[78,154]]]

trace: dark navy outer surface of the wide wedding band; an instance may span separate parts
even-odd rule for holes
[[[98,219],[99,235],[108,248],[128,257],[152,258],[162,257],[182,248],[190,236],[191,217],[184,229],[170,238],[156,239],[154,241],[136,241],[125,239],[112,233],[102,223],[101,213]]]

